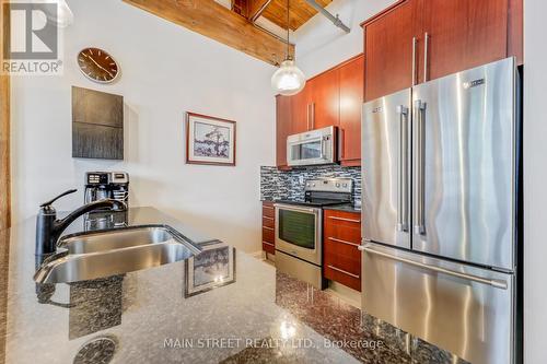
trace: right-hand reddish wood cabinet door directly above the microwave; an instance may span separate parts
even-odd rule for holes
[[[338,126],[340,115],[339,79],[339,70],[333,69],[310,80],[306,85],[312,94],[310,105],[311,130]]]

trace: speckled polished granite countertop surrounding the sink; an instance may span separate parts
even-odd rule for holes
[[[78,220],[67,234],[118,218]],[[203,251],[153,269],[44,285],[33,281],[35,220],[0,232],[0,360],[453,363],[449,353],[155,209],[130,209],[126,221],[168,224]]]

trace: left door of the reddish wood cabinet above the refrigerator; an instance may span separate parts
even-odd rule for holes
[[[412,38],[421,25],[416,21],[419,7],[420,0],[407,0],[363,24],[365,101],[412,85],[412,48],[418,46]]]

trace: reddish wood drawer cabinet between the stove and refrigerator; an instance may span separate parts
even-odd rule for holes
[[[361,214],[325,210],[323,275],[361,291]]]

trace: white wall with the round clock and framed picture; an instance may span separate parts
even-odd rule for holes
[[[121,1],[69,0],[63,77],[13,78],[14,220],[73,187],[56,203],[82,203],[86,171],[127,171],[131,206],[154,206],[211,237],[260,249],[259,166],[275,162],[274,68]],[[88,46],[120,63],[119,82],[88,81],[75,56]],[[124,95],[125,161],[71,157],[71,86]],[[185,111],[237,121],[237,166],[185,164]]]

